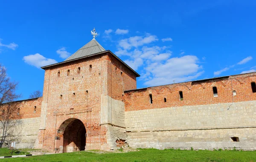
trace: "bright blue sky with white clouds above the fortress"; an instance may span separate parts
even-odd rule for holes
[[[256,2],[3,1],[0,63],[26,99],[43,90],[41,66],[92,39],[134,68],[137,88],[256,71]]]

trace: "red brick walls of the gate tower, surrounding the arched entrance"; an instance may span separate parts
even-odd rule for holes
[[[60,146],[55,143],[57,130],[67,119],[76,118],[86,128],[86,149],[100,149],[101,145],[107,143],[106,127],[100,125],[102,95],[121,101],[124,90],[134,88],[136,75],[111,54],[96,55],[46,69],[43,98],[47,104],[47,120],[39,143],[43,142],[43,147],[49,150]]]

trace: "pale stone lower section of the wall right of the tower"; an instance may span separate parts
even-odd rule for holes
[[[256,101],[125,112],[132,148],[256,149]],[[239,137],[233,142],[231,137]]]

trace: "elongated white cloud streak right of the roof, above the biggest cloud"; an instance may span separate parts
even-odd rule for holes
[[[131,47],[143,46],[145,44],[157,41],[156,35],[134,36],[119,41],[119,46],[123,49],[131,49]]]

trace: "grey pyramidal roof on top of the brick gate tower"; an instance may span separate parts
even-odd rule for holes
[[[90,42],[82,46],[73,55],[67,58],[65,61],[73,60],[76,58],[81,58],[88,55],[93,55],[95,53],[106,51],[97,41],[93,38]]]

